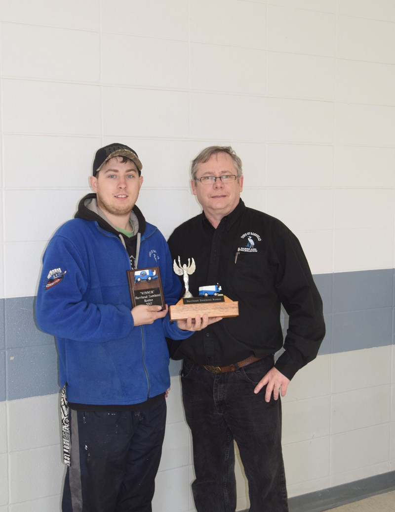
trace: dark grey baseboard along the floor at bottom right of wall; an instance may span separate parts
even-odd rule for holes
[[[322,512],[395,490],[395,471],[289,498],[289,512]],[[248,512],[240,510],[239,512]]]

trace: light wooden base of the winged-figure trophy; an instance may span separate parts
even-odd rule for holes
[[[186,301],[188,301],[187,304],[185,304]],[[197,315],[203,316],[205,314],[208,315],[208,318],[239,316],[238,301],[231,301],[226,295],[222,295],[220,301],[218,297],[181,298],[177,304],[170,306],[170,320],[186,320],[189,317],[194,318]]]

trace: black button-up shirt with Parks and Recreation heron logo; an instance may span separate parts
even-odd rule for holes
[[[181,342],[169,340],[173,359],[224,366],[251,354],[274,353],[284,341],[285,352],[275,366],[292,378],[316,357],[325,334],[322,301],[299,241],[281,221],[240,200],[216,229],[204,214],[184,222],[169,247],[181,264],[195,260],[189,276],[194,296],[200,286],[219,284],[239,301],[239,316],[223,318]],[[281,304],[289,314],[285,340]]]

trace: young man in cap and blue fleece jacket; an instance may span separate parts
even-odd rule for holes
[[[209,323],[171,324],[167,306],[131,309],[127,270],[158,266],[167,305],[181,290],[164,237],[135,205],[141,169],[124,144],[98,150],[94,193],[43,256],[36,318],[56,336],[71,459],[63,512],[151,511],[170,386],[165,336],[184,338]]]

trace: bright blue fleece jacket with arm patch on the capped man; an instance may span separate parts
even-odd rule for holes
[[[165,238],[151,225],[141,237],[138,268],[158,266],[165,301],[175,304],[180,283]],[[60,386],[70,402],[141,403],[170,386],[165,336],[191,333],[169,315],[134,327],[126,271],[130,260],[117,234],[96,221],[73,219],[55,233],[43,255],[36,319],[56,336]]]

